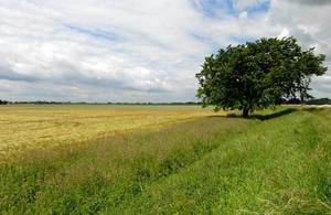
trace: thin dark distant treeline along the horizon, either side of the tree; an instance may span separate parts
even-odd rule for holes
[[[1,100],[0,105],[9,105],[9,104],[21,104],[21,105],[201,105],[201,103],[195,101],[184,101],[184,103],[72,103],[72,101],[8,101]],[[313,98],[307,101],[301,101],[300,99],[289,99],[284,100],[285,105],[331,105],[330,98]]]

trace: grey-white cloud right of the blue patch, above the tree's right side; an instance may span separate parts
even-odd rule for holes
[[[324,0],[273,0],[268,14],[271,24],[284,26],[281,34],[293,35],[303,47],[316,47],[317,53],[327,55],[329,71],[324,76],[313,78],[311,85],[316,97],[331,97],[330,11],[331,2]]]

